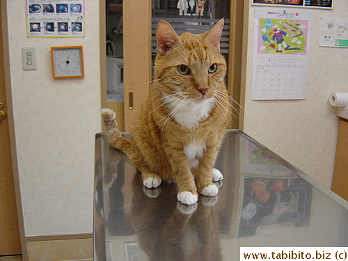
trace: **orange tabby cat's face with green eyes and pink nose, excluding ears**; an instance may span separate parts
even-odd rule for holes
[[[159,79],[165,95],[175,94],[201,102],[214,97],[217,90],[224,87],[226,61],[219,51],[220,38],[209,35],[214,33],[212,30],[201,35],[183,33],[180,36],[171,31],[176,37],[170,36],[170,46],[164,47],[164,52],[159,49],[155,61],[155,79]],[[161,41],[158,35],[157,41]],[[216,35],[221,35],[221,31]]]

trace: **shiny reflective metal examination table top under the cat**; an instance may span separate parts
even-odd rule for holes
[[[242,246],[348,246],[347,201],[244,132],[228,130],[215,168],[219,193],[183,205],[175,183],[143,187],[129,159],[96,134],[94,260],[239,260]]]

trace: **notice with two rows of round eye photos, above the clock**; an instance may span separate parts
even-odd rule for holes
[[[29,37],[84,37],[84,0],[26,0]]]

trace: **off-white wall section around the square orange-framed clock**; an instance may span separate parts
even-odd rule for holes
[[[93,232],[94,136],[101,131],[99,1],[84,38],[28,38],[22,0],[8,0],[10,74],[25,235]],[[50,47],[82,45],[85,77],[53,79]],[[38,69],[22,70],[22,47]]]

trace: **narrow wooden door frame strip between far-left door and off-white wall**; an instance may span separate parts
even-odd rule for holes
[[[17,164],[17,152],[15,145],[15,124],[13,118],[13,103],[12,103],[12,90],[10,85],[10,48],[8,45],[8,15],[7,15],[7,0],[1,0],[1,31],[2,31],[2,43],[3,43],[3,65],[4,65],[4,77],[5,77],[5,90],[6,90],[6,112],[8,120],[8,129],[10,136],[10,151],[13,166],[13,180],[15,185],[15,198],[17,205],[17,218],[19,223],[19,237],[22,248],[22,255],[24,260],[28,260],[28,253],[26,251],[26,240],[24,232],[24,219],[22,210],[22,198],[19,188],[19,172]]]

